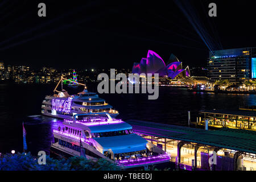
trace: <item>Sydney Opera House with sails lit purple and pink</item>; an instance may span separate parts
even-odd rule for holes
[[[132,73],[155,73],[159,74],[159,77],[174,78],[186,78],[190,77],[189,68],[182,68],[182,62],[180,62],[175,55],[171,55],[168,63],[164,63],[163,59],[154,51],[148,51],[147,58],[142,58],[140,63],[134,63]]]

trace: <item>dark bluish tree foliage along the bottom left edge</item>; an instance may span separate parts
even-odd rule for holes
[[[46,156],[46,164],[38,164],[38,158],[30,152],[6,154],[0,158],[1,171],[119,171],[122,168],[106,159],[86,159],[74,156],[69,159],[52,159]]]

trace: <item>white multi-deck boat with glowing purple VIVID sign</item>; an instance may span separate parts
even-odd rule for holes
[[[89,92],[84,84],[84,90],[80,93],[70,96],[66,90],[63,89],[63,80],[61,77],[57,86],[61,82],[61,91],[57,90],[57,86],[53,96],[46,96],[42,102],[43,115],[55,118],[72,119],[76,114],[87,113],[109,113],[113,118],[117,117],[118,111],[112,109],[113,107],[106,103],[106,101],[98,97],[97,93]],[[68,80],[71,81],[71,80]]]

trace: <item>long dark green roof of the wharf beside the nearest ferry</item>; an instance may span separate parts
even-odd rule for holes
[[[210,131],[132,119],[125,122],[136,133],[256,154],[256,131],[226,128]]]

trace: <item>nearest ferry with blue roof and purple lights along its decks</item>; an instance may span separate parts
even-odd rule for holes
[[[104,158],[122,168],[146,167],[170,162],[170,155],[135,134],[131,125],[108,113],[76,114],[53,130],[53,157]]]

